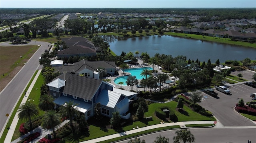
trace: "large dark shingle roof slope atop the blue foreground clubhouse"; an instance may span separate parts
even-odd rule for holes
[[[102,80],[70,74],[63,92],[82,99],[92,100],[102,82]]]

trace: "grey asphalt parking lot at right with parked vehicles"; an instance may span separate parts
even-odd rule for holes
[[[217,90],[217,97],[212,97],[202,92],[203,99],[199,103],[206,110],[209,110],[224,126],[256,126],[250,119],[244,118],[234,111],[236,103],[243,98],[244,103],[252,101],[251,93],[256,92],[256,88],[252,88],[243,83],[229,86],[230,94],[224,94]]]

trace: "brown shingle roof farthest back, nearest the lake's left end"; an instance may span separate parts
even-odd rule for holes
[[[86,47],[94,47],[94,44],[84,37],[62,38],[61,40],[65,41],[66,45],[69,48],[76,47],[77,45],[83,45]]]

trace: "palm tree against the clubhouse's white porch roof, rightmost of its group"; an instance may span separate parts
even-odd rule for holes
[[[69,118],[70,126],[73,133],[74,133],[73,118],[80,115],[78,109],[75,107],[77,105],[78,105],[77,103],[74,103],[74,101],[70,100],[69,102],[65,102],[64,106],[60,107],[60,114],[62,115],[62,117]]]

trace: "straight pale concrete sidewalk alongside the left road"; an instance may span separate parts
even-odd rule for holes
[[[40,75],[41,71],[42,71],[42,69],[38,70],[38,72],[36,73],[36,76],[34,77],[33,81],[31,82],[31,84],[28,88],[28,91],[26,91],[26,96],[23,97],[22,102],[20,104],[26,103],[26,101],[28,100],[29,94],[32,91],[32,88],[34,87],[34,85],[36,83],[36,80],[37,80],[38,76]],[[18,118],[18,112],[17,112],[14,116],[12,124],[10,125],[10,129],[9,129],[7,135],[6,135],[4,143],[10,143],[11,142],[12,136],[14,134],[14,131],[15,131],[15,128],[16,128],[16,125],[17,125],[18,121],[19,121],[19,118]]]

